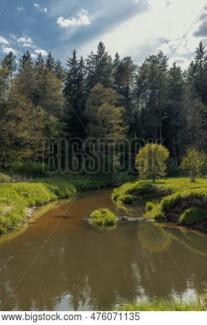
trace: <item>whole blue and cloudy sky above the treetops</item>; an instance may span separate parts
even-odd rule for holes
[[[0,0],[0,58],[51,51],[65,64],[74,48],[87,57],[99,41],[112,57],[141,64],[163,50],[187,68],[199,41],[207,46],[207,1]]]

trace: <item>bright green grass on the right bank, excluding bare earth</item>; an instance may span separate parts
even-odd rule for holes
[[[124,203],[121,198],[126,195],[132,196],[135,201],[145,195],[148,202],[144,216],[148,219],[166,221],[166,216],[172,213],[175,207],[181,207],[184,202],[188,205],[197,203],[206,206],[207,180],[199,178],[196,183],[190,183],[186,178],[166,178],[157,180],[156,183],[139,180],[121,185],[112,192],[112,198],[117,203]],[[159,200],[155,201],[156,197]]]

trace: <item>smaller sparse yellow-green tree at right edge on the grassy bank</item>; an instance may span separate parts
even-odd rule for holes
[[[195,177],[201,175],[205,163],[204,154],[191,147],[186,150],[186,156],[181,160],[181,169],[190,176],[190,182],[195,182]]]

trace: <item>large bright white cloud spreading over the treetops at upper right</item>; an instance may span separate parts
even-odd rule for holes
[[[192,23],[204,6],[204,0],[148,0],[148,4],[148,11],[122,22],[108,34],[104,32],[81,44],[77,48],[78,52],[87,55],[91,50],[96,50],[101,39],[111,55],[118,51],[121,57],[131,55],[135,62],[141,64],[145,57],[161,49],[170,57],[170,64],[179,59],[181,67],[186,68],[201,40],[193,36],[199,22]],[[188,35],[184,37],[187,30]]]

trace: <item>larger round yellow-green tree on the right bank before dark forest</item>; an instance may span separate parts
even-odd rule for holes
[[[166,174],[166,160],[170,153],[163,145],[148,143],[137,154],[137,169],[141,178],[163,177]]]

